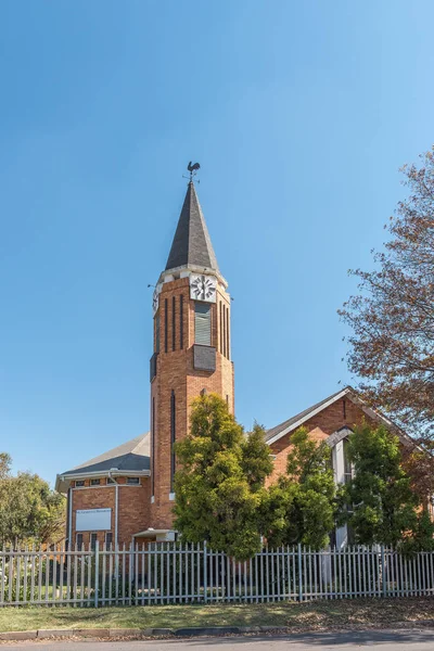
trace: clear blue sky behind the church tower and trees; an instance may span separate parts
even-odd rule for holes
[[[149,426],[151,290],[200,161],[237,414],[352,381],[336,309],[433,142],[429,0],[3,0],[0,447],[53,482]]]

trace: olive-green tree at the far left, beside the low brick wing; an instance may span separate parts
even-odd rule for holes
[[[10,472],[0,455],[0,545],[55,542],[64,534],[65,499],[37,474]]]

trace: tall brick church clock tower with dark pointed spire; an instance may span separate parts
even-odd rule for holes
[[[174,443],[189,430],[192,400],[217,393],[233,413],[230,296],[191,179],[166,268],[153,296],[151,523],[173,527]]]

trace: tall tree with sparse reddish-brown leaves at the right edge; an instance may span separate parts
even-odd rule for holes
[[[391,217],[378,269],[353,270],[359,295],[340,310],[349,324],[348,366],[372,406],[405,429],[434,436],[434,146],[406,165],[409,196]],[[431,470],[431,472],[433,472]]]

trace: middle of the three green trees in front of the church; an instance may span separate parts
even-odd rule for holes
[[[335,484],[330,448],[301,427],[291,437],[288,475],[270,486],[261,505],[261,528],[271,546],[321,549],[334,527]]]

